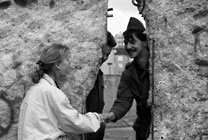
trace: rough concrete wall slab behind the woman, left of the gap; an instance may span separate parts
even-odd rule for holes
[[[84,112],[106,42],[107,0],[0,0],[0,139],[16,140],[19,107],[42,48],[70,49],[62,90]],[[80,136],[71,136],[73,140]]]

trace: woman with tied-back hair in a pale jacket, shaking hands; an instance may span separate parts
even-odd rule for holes
[[[102,115],[80,114],[74,109],[66,95],[58,88],[69,73],[68,48],[52,44],[44,48],[32,86],[20,108],[18,140],[67,139],[67,133],[82,134],[96,132]]]

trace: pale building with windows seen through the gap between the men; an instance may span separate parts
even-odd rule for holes
[[[113,48],[108,60],[101,66],[105,75],[121,75],[126,63],[131,61],[124,48],[122,33],[116,34],[115,40],[117,46]]]

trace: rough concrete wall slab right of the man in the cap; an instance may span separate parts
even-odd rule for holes
[[[147,0],[143,15],[155,40],[155,140],[207,139],[208,1]]]

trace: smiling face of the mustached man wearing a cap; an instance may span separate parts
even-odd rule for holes
[[[142,49],[144,49],[145,42],[142,42],[140,39],[136,37],[136,35],[133,34],[133,38],[129,39],[128,41],[125,41],[125,49],[129,55],[130,58],[137,57]]]

